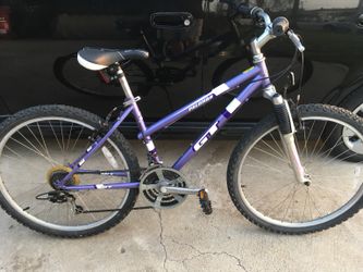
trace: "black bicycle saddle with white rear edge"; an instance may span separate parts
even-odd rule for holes
[[[125,60],[147,59],[148,52],[142,49],[105,49],[85,47],[77,53],[78,63],[85,69],[98,71]]]

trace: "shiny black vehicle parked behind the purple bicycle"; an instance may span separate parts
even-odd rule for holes
[[[331,103],[363,114],[362,1],[256,2],[273,16],[289,17],[304,39],[303,102]],[[121,104],[123,97],[112,78],[77,64],[75,52],[88,45],[150,52],[150,60],[129,63],[125,70],[152,123],[249,66],[251,21],[232,21],[229,15],[223,0],[0,0],[0,114],[71,103],[105,116]],[[294,49],[280,39],[265,53],[274,73],[289,65]],[[299,82],[299,73],[295,77]],[[277,86],[295,98],[299,88],[289,82],[282,77]],[[167,133],[198,132],[229,100],[191,114]],[[266,115],[267,104],[255,97],[221,135],[240,135]],[[130,122],[125,129],[133,127]]]

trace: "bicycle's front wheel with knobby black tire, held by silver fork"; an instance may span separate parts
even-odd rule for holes
[[[295,143],[310,186],[295,180],[274,116],[262,121],[235,147],[228,165],[228,190],[238,210],[268,231],[304,234],[335,226],[358,212],[363,163],[339,151],[348,128],[363,138],[363,122],[336,107],[299,107]]]

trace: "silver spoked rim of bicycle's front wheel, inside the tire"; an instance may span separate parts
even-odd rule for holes
[[[314,129],[312,127],[316,126],[316,120],[325,123],[325,125],[320,126],[322,131],[326,131],[327,127],[334,127],[335,131],[339,129],[339,125],[343,125],[360,135],[352,126],[328,118],[304,118],[303,123],[305,126],[307,123],[313,124],[310,129],[312,132]],[[335,123],[334,126],[328,124],[331,122]],[[238,171],[239,195],[244,206],[254,217],[282,227],[314,227],[342,215],[361,199],[363,194],[362,163],[346,162],[349,159],[347,153],[346,156],[343,152],[340,154],[334,153],[334,150],[339,145],[343,145],[342,136],[337,139],[336,146],[330,146],[331,151],[327,151],[318,161],[319,154],[324,154],[325,150],[320,148],[326,145],[326,139],[325,143],[323,141],[324,145],[322,145],[320,137],[323,132],[317,134],[319,137],[314,139],[314,145],[310,143],[313,139],[311,138],[313,134],[304,133],[304,135],[300,135],[299,151],[302,154],[302,163],[307,174],[312,176],[312,185],[307,187],[303,184],[298,184],[295,181],[293,172],[288,165],[283,147],[279,143],[279,134],[276,132],[277,126],[264,133],[251,145],[242,158]],[[273,135],[268,137],[269,141],[266,141],[267,135]],[[332,133],[326,137],[331,137],[331,135]],[[302,144],[302,141],[308,144]],[[259,143],[262,143],[261,146],[258,146]],[[308,154],[308,150],[312,151],[311,154]],[[264,161],[259,157],[254,158],[256,156],[269,158]],[[314,156],[316,156],[316,159]],[[334,158],[337,160],[331,160]],[[283,163],[285,166],[281,166]],[[279,169],[275,168],[275,164],[279,165]],[[347,176],[337,175],[336,173],[338,172],[344,172]],[[264,175],[265,177],[263,177]],[[342,183],[337,183],[339,178],[347,180],[347,177],[352,177],[351,184],[347,185],[346,183],[341,186]],[[268,181],[266,182],[267,178]],[[277,186],[277,183],[280,183],[280,185]],[[265,191],[262,193],[262,190],[266,189],[266,186],[270,186],[273,189],[269,189],[267,194]]]

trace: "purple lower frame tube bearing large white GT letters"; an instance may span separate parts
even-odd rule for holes
[[[237,98],[234,98],[209,126],[209,128],[172,165],[176,170],[181,170],[189,160],[232,118],[249,98],[261,87],[262,82],[250,84]]]

